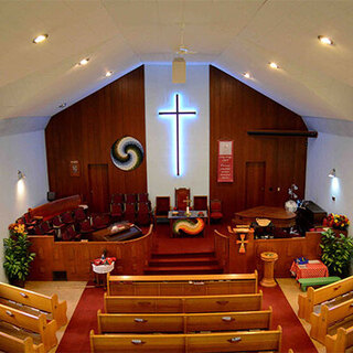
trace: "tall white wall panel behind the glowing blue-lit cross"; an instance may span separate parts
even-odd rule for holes
[[[208,65],[186,65],[186,83],[172,83],[171,65],[146,65],[147,179],[152,203],[156,196],[171,196],[174,188],[190,188],[191,196],[208,195],[210,190],[210,98]],[[181,175],[175,175],[175,118],[160,117],[172,110],[181,95],[182,110],[196,110],[196,117],[181,118]]]

